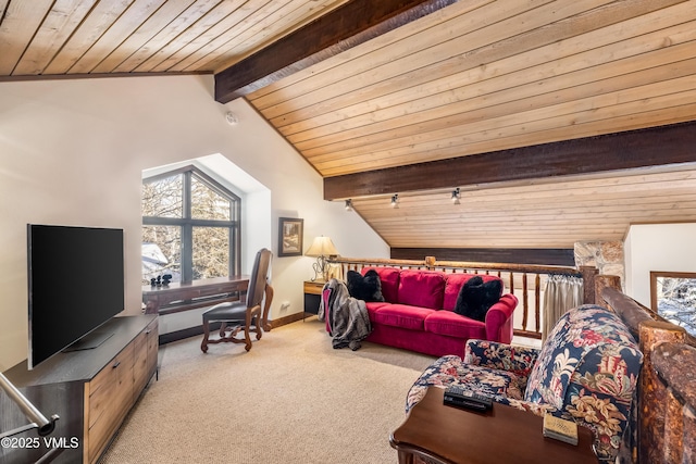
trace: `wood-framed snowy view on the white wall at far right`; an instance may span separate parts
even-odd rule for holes
[[[651,271],[650,306],[696,336],[696,273]]]

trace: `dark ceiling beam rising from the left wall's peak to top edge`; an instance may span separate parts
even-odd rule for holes
[[[227,103],[458,0],[352,0],[215,74]]]

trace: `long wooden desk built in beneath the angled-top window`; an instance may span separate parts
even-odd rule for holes
[[[195,308],[210,305],[210,302],[196,304],[191,300],[196,298],[213,297],[225,293],[243,293],[249,287],[249,276],[216,277],[204,280],[194,280],[190,284],[170,284],[162,287],[142,287],[142,302],[145,303],[145,314],[169,314],[178,311],[187,311]],[[226,299],[216,300],[215,303],[236,299],[231,296]],[[174,301],[186,302],[181,308],[161,310],[162,306]]]

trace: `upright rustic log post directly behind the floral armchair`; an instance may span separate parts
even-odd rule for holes
[[[686,333],[668,322],[644,321],[639,325],[639,334],[644,358],[638,379],[638,462],[668,462],[663,453],[670,393],[655,371],[650,353],[660,343],[684,342]]]

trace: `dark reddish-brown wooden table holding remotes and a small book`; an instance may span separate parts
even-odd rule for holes
[[[399,464],[412,464],[414,456],[437,464],[597,463],[588,428],[577,427],[575,447],[544,438],[537,415],[496,403],[485,413],[459,410],[443,404],[444,392],[428,388],[389,437]]]

